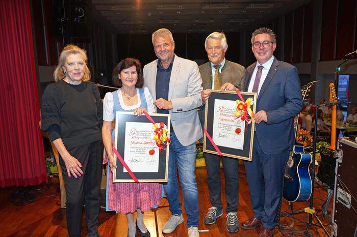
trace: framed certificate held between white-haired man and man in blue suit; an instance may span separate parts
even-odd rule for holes
[[[254,121],[247,124],[237,117],[236,92],[208,90],[210,98],[206,101],[205,129],[212,137],[223,156],[251,161],[253,151]],[[257,93],[240,92],[244,101],[252,101],[250,109],[256,112]],[[217,154],[207,135],[203,137],[203,152]]]

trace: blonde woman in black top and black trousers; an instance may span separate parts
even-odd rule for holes
[[[60,154],[66,189],[69,236],[81,236],[85,210],[88,236],[97,237],[101,164],[103,163],[103,103],[89,81],[86,51],[75,45],[63,48],[41,104],[41,130],[48,133]]]

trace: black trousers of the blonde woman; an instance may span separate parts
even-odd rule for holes
[[[88,236],[99,236],[100,208],[100,179],[101,164],[103,163],[103,142],[95,141],[90,144],[74,147],[69,154],[78,159],[83,165],[84,175],[68,177],[66,165],[60,158],[63,180],[66,189],[66,218],[70,237],[81,236],[83,204]]]

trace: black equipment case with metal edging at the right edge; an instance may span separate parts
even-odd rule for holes
[[[332,230],[334,236],[357,236],[357,143],[349,138],[338,142]]]

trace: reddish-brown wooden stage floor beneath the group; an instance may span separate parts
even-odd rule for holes
[[[243,174],[244,166],[239,167],[240,180],[239,180],[239,206],[238,206],[238,219],[239,222],[243,222],[252,216],[252,210],[250,205],[250,195],[247,185],[247,180]],[[199,196],[199,229],[204,232],[200,232],[200,236],[246,236],[253,237],[258,236],[260,228],[254,230],[239,229],[237,233],[229,233],[225,226],[225,216],[220,217],[213,225],[205,225],[203,219],[210,208],[210,200],[207,186],[207,171],[206,168],[197,168],[197,186]],[[221,172],[221,184],[222,190],[224,190],[224,175]],[[66,215],[65,209],[61,209],[59,206],[59,184],[58,178],[50,178],[49,189],[45,191],[42,196],[57,195],[55,197],[46,197],[38,201],[27,205],[14,205],[10,203],[10,194],[16,190],[23,188],[7,188],[0,190],[0,236],[68,236],[66,231]],[[315,189],[315,209],[318,211],[321,209],[321,203],[323,203],[326,192],[319,188]],[[182,200],[182,198],[181,198]],[[224,203],[224,195],[222,195]],[[294,210],[301,210],[308,206],[308,202],[294,203]],[[329,205],[331,211],[332,204]],[[225,208],[225,204],[223,206]],[[184,209],[184,208],[183,208]],[[285,201],[282,204],[282,211],[288,210],[288,205]],[[145,224],[151,233],[151,236],[187,236],[187,229],[184,222],[176,228],[171,234],[163,234],[161,229],[170,212],[168,209],[168,202],[165,198],[162,199],[161,207],[153,211],[145,213]],[[305,214],[295,215],[296,218],[303,220]],[[184,215],[186,219],[186,215]],[[282,223],[290,224],[290,219],[282,218]],[[293,229],[304,230],[304,224],[296,223]],[[104,209],[101,209],[99,216],[99,233],[102,236],[126,236],[126,218],[124,215],[116,215],[114,213],[107,213]],[[317,221],[313,219],[313,223],[317,224]],[[324,220],[323,223],[328,227],[328,221]],[[317,228],[312,225],[309,227],[313,236],[324,236],[322,228]],[[207,231],[207,232],[206,232]],[[283,230],[286,236],[292,236],[290,230]],[[275,236],[282,236],[282,233],[276,227],[274,230]],[[82,236],[86,235],[85,223],[83,221]],[[307,233],[300,233],[300,236],[306,236]],[[298,236],[298,235],[294,235]]]

